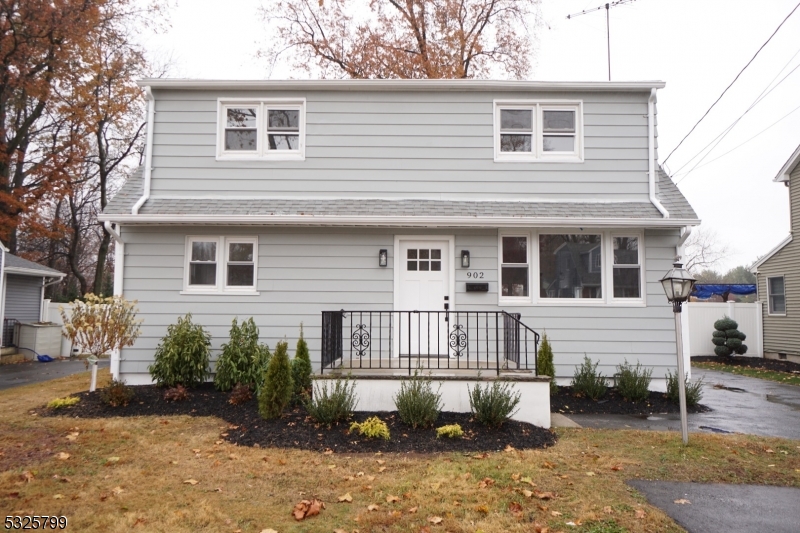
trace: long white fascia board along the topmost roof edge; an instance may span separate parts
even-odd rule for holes
[[[181,90],[326,90],[326,91],[650,91],[663,81],[500,81],[500,80],[192,80],[146,78],[151,89]]]

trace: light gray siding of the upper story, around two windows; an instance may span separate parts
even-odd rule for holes
[[[158,90],[152,194],[647,201],[648,96]],[[306,98],[305,161],[217,161],[225,97]],[[506,98],[583,101],[585,161],[494,162]]]

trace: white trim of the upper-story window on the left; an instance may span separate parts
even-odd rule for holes
[[[225,126],[229,107],[256,107],[257,148],[253,152],[226,151]],[[269,108],[300,111],[299,150],[269,150],[267,143],[267,110]],[[217,161],[305,161],[306,99],[305,98],[219,98],[217,99]]]

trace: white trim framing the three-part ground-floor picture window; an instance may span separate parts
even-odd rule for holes
[[[539,236],[540,235],[600,235],[600,250],[602,257],[602,298],[542,298],[539,285]],[[509,297],[502,294],[502,247],[503,237],[527,236],[528,237],[528,288],[530,297]],[[638,237],[639,238],[639,268],[641,283],[641,298],[614,298],[614,272],[613,272],[613,237]],[[530,230],[514,231],[512,229],[498,230],[497,235],[497,303],[506,307],[646,307],[647,306],[647,258],[645,255],[644,231],[612,231],[609,229],[593,228],[555,228],[541,231]]]

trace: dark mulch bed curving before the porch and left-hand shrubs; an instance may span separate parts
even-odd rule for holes
[[[362,438],[348,431],[349,424],[332,428],[320,426],[297,408],[279,419],[264,420],[258,414],[255,400],[242,405],[228,403],[229,394],[219,392],[207,383],[193,389],[189,399],[167,402],[164,389],[153,385],[132,387],[134,400],[124,407],[110,407],[100,401],[99,392],[78,394],[81,401],[58,411],[42,408],[42,416],[70,416],[105,418],[113,416],[216,416],[231,426],[224,436],[230,442],[244,446],[299,448],[304,450],[334,450],[336,452],[476,452],[502,450],[506,446],[516,449],[545,448],[555,444],[556,436],[549,429],[525,422],[509,420],[502,427],[490,429],[472,420],[469,413],[441,413],[436,426],[461,424],[462,439],[437,439],[434,429],[412,429],[403,424],[396,412],[356,412],[353,419],[362,422],[370,416],[384,420],[391,433],[390,441]]]

